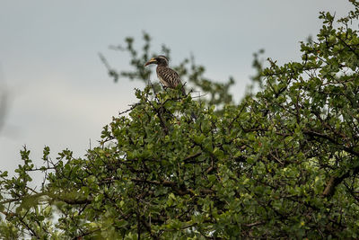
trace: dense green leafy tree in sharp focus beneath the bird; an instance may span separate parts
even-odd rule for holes
[[[320,13],[323,27],[302,42],[301,62],[268,59],[261,70],[256,61],[262,88],[240,104],[215,112],[215,102],[147,86],[83,158],[65,150],[52,161],[45,147],[36,168],[24,148],[18,175],[0,175],[0,236],[358,237],[359,38],[351,23],[359,3],[351,3],[337,27]],[[144,74],[144,59],[133,59],[131,73]],[[33,171],[46,180],[39,191],[29,185]]]

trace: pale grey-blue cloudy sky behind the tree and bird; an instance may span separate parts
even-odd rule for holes
[[[53,159],[62,149],[83,156],[96,146],[102,127],[136,102],[134,88],[144,87],[115,84],[98,56],[127,70],[129,56],[109,49],[127,36],[140,47],[146,31],[154,51],[171,49],[174,65],[193,54],[206,76],[233,76],[240,101],[254,52],[265,49],[265,58],[279,63],[299,60],[299,41],[315,39],[320,11],[343,16],[351,9],[346,0],[0,0],[0,104],[7,96],[0,171],[21,164],[24,146],[37,165],[45,146]]]

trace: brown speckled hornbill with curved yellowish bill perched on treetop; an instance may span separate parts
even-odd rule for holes
[[[186,95],[185,88],[180,82],[179,74],[175,70],[168,67],[169,66],[168,58],[160,55],[156,58],[151,58],[148,62],[144,64],[144,66],[148,66],[150,64],[157,64],[157,68],[156,68],[157,76],[160,79],[163,86],[169,88],[176,88],[180,84],[182,89],[182,94]]]

